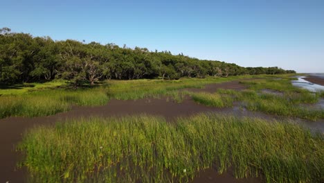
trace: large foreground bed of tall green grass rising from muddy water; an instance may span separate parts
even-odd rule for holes
[[[324,180],[323,134],[233,116],[66,121],[29,130],[19,149],[31,182],[188,182],[212,166],[267,182]]]

